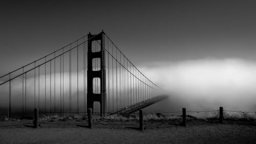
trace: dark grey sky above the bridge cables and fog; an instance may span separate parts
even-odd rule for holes
[[[135,65],[255,60],[255,1],[1,1],[1,74],[104,30]]]

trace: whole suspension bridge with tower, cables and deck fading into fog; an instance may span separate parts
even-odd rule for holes
[[[165,99],[103,31],[0,77],[0,113],[130,114]]]

